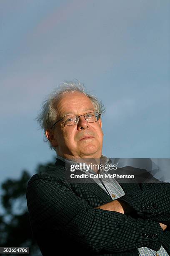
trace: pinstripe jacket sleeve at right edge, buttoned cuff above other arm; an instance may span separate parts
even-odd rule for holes
[[[131,205],[140,218],[170,224],[170,183],[143,183],[140,187],[119,199]]]

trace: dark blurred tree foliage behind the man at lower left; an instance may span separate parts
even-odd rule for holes
[[[45,172],[47,166],[53,164],[39,164],[35,173]],[[26,204],[26,188],[30,178],[30,173],[23,170],[19,179],[6,179],[1,184],[3,214],[0,215],[0,247],[29,247],[29,255],[41,256],[32,236]]]

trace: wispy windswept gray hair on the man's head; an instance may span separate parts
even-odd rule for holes
[[[42,108],[40,113],[37,115],[35,120],[40,125],[40,128],[44,131],[44,141],[50,144],[50,148],[56,151],[56,148],[52,147],[50,141],[47,139],[45,135],[45,131],[50,129],[53,123],[56,121],[57,118],[57,111],[56,111],[56,103],[60,100],[63,94],[71,93],[71,92],[82,92],[85,94],[89,99],[92,101],[92,104],[95,110],[102,114],[105,112],[104,105],[102,102],[97,99],[94,95],[90,95],[89,92],[85,90],[84,84],[81,84],[79,81],[76,82],[72,81],[65,81],[59,84],[54,90],[45,98],[44,102],[42,103]]]

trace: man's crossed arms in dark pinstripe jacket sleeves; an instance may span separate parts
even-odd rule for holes
[[[145,191],[121,197],[138,212],[139,218],[135,219],[118,211],[92,207],[50,174],[34,176],[28,184],[27,203],[30,223],[36,230],[60,230],[92,253],[119,253],[140,247],[160,249],[166,231],[159,223],[170,223],[170,184],[150,185]],[[141,209],[141,205],[153,202],[157,202],[158,209]],[[143,236],[150,232],[153,236]]]

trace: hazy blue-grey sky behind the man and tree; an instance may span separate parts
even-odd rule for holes
[[[35,121],[55,86],[102,100],[103,154],[170,158],[169,0],[0,0],[0,181],[53,161]]]

